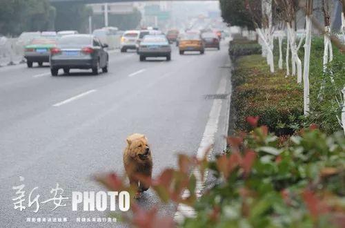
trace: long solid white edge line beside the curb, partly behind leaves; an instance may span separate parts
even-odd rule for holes
[[[217,89],[217,94],[223,94],[226,92],[226,77],[222,77],[219,82],[219,87]],[[197,150],[197,158],[202,159],[204,158],[206,149],[208,146],[215,143],[215,134],[218,131],[218,122],[219,117],[221,113],[221,99],[215,99],[213,101],[213,105],[210,111],[210,114],[208,115],[208,121],[206,123],[205,131],[202,136],[201,142],[199,144],[199,149]],[[210,152],[208,153],[208,156],[212,153],[212,148]],[[207,179],[208,172],[204,173],[204,178],[201,178],[201,175],[199,173],[198,169],[193,169],[193,174],[195,175],[195,178],[197,179],[196,187],[195,187],[195,193],[197,195],[197,198],[201,196],[201,191],[204,189],[205,180]],[[184,193],[182,193],[183,198],[187,198],[189,196],[189,191],[186,190]],[[183,222],[184,218],[186,217],[194,217],[195,211],[193,207],[189,207],[184,204],[177,205],[177,211],[175,212],[175,218],[174,220],[176,222]]]

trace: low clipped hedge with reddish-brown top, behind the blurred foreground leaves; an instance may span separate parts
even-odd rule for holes
[[[284,72],[270,74],[260,55],[239,57],[232,76],[235,129],[248,131],[246,117],[259,116],[259,124],[277,135],[292,134],[302,124],[302,87]]]

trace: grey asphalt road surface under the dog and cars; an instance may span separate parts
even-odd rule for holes
[[[197,153],[220,82],[230,93],[230,68],[226,42],[221,50],[205,55],[179,55],[172,61],[140,62],[136,53],[110,54],[110,72],[93,76],[72,70],[50,76],[46,67],[25,65],[0,68],[0,221],[1,227],[99,227],[119,223],[76,222],[77,218],[103,218],[108,212],[72,211],[72,191],[105,191],[90,177],[95,173],[124,173],[122,153],[126,137],[144,133],[151,144],[157,175],[177,165],[177,153]],[[62,70],[61,70],[62,71]],[[228,99],[217,115],[214,153],[224,146]],[[22,182],[19,176],[25,178]],[[52,198],[59,183],[66,207],[54,204],[28,207]],[[14,209],[14,186],[25,184],[26,209]],[[152,191],[140,205],[159,203]],[[160,205],[161,214],[175,213],[174,205]],[[68,218],[68,222],[26,222],[27,218]]]

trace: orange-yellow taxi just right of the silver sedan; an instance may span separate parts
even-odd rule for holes
[[[184,55],[185,51],[198,51],[204,54],[204,42],[199,32],[186,32],[179,37],[179,55]]]

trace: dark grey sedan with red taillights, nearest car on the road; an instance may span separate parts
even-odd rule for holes
[[[107,44],[93,35],[66,35],[61,37],[56,48],[50,50],[50,71],[56,76],[59,69],[68,74],[70,69],[92,69],[98,75],[99,68],[108,72],[109,55],[104,50]]]

